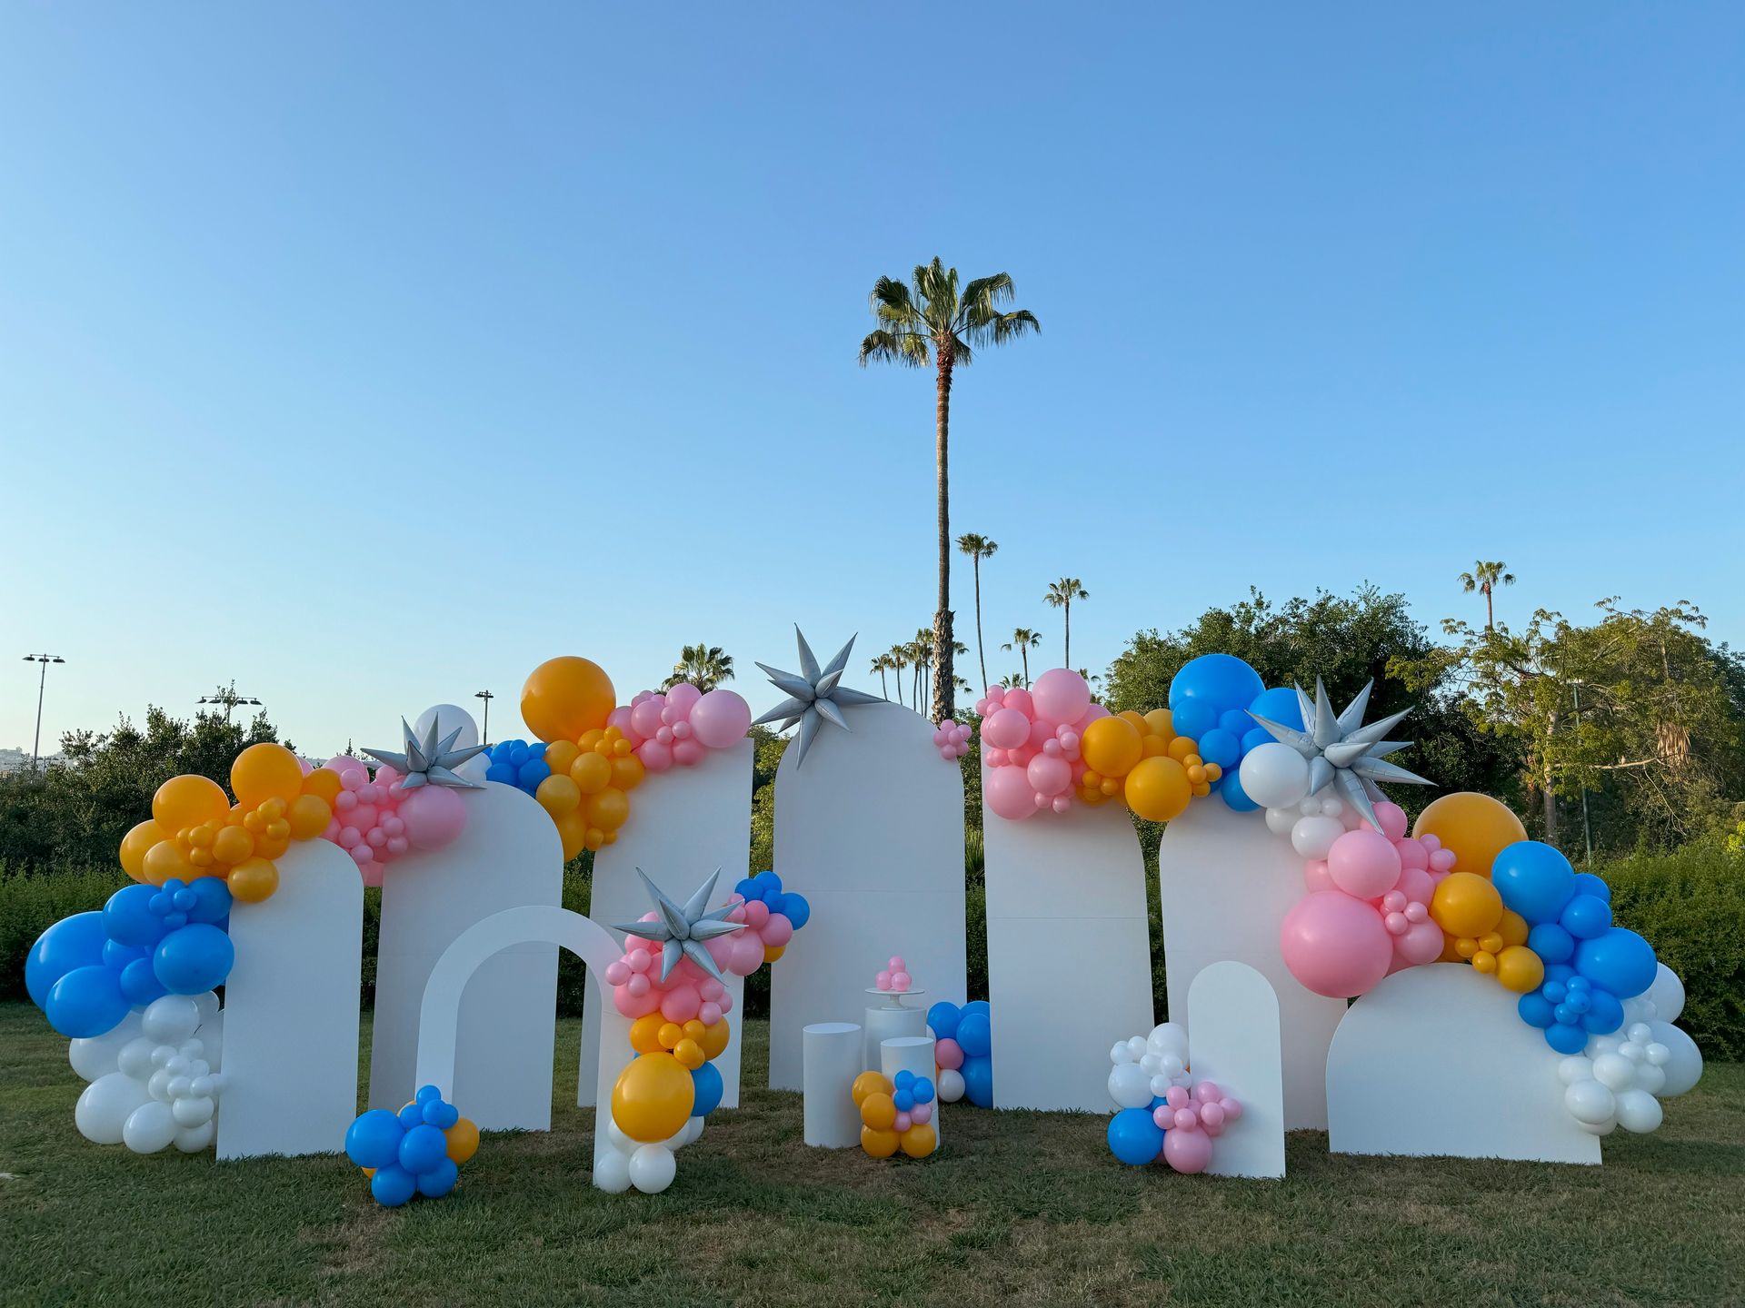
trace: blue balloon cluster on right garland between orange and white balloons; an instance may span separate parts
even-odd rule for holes
[[[1527,919],[1527,949],[1544,982],[1520,998],[1522,1020],[1544,1031],[1558,1053],[1581,1053],[1588,1036],[1625,1022],[1623,1001],[1654,984],[1654,947],[1612,926],[1612,891],[1541,841],[1516,841],[1490,865],[1502,907]]]

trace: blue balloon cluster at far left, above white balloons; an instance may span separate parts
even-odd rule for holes
[[[236,963],[222,877],[122,886],[101,912],[63,917],[24,957],[24,989],[75,1039],[113,1031],[164,994],[204,994]]]

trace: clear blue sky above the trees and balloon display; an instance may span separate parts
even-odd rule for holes
[[[236,678],[305,752],[586,654],[930,623],[939,253],[989,638],[1249,584],[1745,638],[1745,7],[0,3],[0,745]],[[960,630],[974,644],[968,569]],[[972,656],[974,663],[974,656]],[[989,673],[1016,666],[995,652]],[[970,673],[974,677],[974,671]]]

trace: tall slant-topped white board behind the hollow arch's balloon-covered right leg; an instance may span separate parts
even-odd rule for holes
[[[637,875],[639,867],[681,903],[710,872],[721,869],[710,907],[728,902],[749,870],[756,748],[747,738],[731,750],[710,750],[695,767],[674,767],[637,787],[630,821],[618,830],[612,844],[593,856],[593,900],[588,903],[593,921],[633,923],[654,907]],[[728,991],[733,994],[733,1012],[728,1015],[733,1038],[714,1062],[721,1073],[721,1106],[738,1107],[745,978],[729,975]],[[593,1102],[595,1083],[600,1080],[602,1045],[593,1039],[592,1029],[599,1025],[602,1005],[612,1006],[606,978],[590,968],[581,1010],[581,1067],[576,1076],[576,1102],[583,1107]],[[611,1052],[614,1046],[604,1048]],[[607,1090],[632,1057],[633,1050],[625,1045],[612,1080],[606,1083]]]

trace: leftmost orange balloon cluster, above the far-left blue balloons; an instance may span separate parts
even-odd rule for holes
[[[134,881],[223,877],[230,895],[258,903],[279,888],[272,862],[291,841],[312,841],[333,816],[339,776],[318,767],[304,776],[297,755],[262,741],[230,764],[230,788],[206,776],[173,776],[152,795],[152,816],[120,842],[120,865]]]

